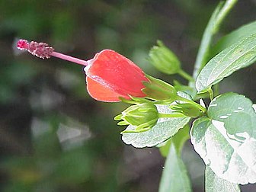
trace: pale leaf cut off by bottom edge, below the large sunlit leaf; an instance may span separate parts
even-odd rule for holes
[[[239,192],[238,184],[232,184],[214,174],[211,168],[206,166],[206,192]]]

